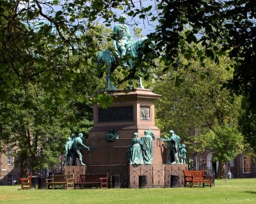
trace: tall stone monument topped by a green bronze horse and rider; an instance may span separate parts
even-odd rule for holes
[[[93,128],[88,133],[88,139],[84,141],[86,146],[93,147],[93,151],[83,150],[85,166],[65,166],[65,171],[108,172],[109,175],[122,177],[121,180],[126,182],[124,187],[138,187],[138,177],[146,176],[148,186],[165,187],[166,183],[170,183],[170,175],[173,172],[180,173],[182,169],[188,168],[188,165],[168,163],[164,141],[156,139],[160,137],[160,130],[155,125],[155,101],[161,95],[143,88],[141,81],[140,88],[131,87],[125,93],[116,90],[111,82],[110,70],[117,66],[116,60],[124,58],[125,54],[131,54],[134,51],[134,47],[131,51],[134,43],[138,45],[140,42],[141,49],[146,39],[134,41],[124,22],[123,18],[114,30],[117,35],[113,42],[116,54],[109,50],[102,52],[108,56],[103,60],[100,53],[102,61],[98,61],[107,67],[106,88],[108,93],[113,95],[113,103],[106,109],[100,104],[93,104]],[[134,53],[136,54],[136,51]],[[130,70],[133,68],[131,60],[122,64],[127,65]]]

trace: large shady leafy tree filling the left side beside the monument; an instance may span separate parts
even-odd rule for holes
[[[40,20],[40,4],[29,3],[1,1],[0,10],[0,152],[17,146],[23,171],[53,166],[70,132],[86,135],[92,127],[92,96],[103,87],[92,48],[97,36],[108,38],[95,24],[75,32],[81,42],[72,50],[63,35],[68,25]]]

